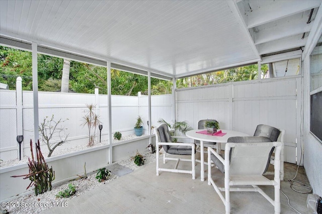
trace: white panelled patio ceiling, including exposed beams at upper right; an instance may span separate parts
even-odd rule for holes
[[[321,2],[2,0],[0,34],[182,77],[305,46]]]

